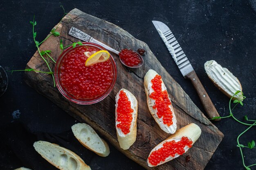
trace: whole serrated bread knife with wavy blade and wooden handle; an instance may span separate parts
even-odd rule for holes
[[[159,22],[159,21],[152,21],[152,22],[155,28],[157,29],[157,32],[159,33],[160,37],[164,41],[164,44],[166,45],[169,52],[171,53],[182,75],[185,78],[188,78],[191,80],[195,90],[199,95],[202,105],[204,106],[204,110],[208,114],[209,118],[219,117],[220,116],[219,113],[217,112],[216,108],[211,102],[209,95],[205,91],[204,86],[200,82],[188,58],[186,57],[184,51],[180,47],[180,44],[177,42],[171,30],[168,28],[168,26],[166,26],[166,24],[162,22]],[[214,120],[218,121],[220,119],[214,119]]]

